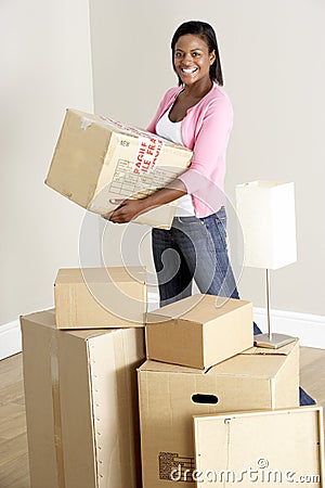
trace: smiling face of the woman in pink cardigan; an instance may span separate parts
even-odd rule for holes
[[[209,70],[216,60],[204,39],[192,34],[181,36],[174,47],[174,70],[184,85],[210,81]]]

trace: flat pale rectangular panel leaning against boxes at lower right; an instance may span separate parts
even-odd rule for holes
[[[193,481],[203,488],[321,487],[323,428],[321,407],[195,416]],[[174,480],[180,476],[181,466]]]

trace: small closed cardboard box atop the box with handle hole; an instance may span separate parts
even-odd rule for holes
[[[252,304],[193,295],[147,313],[147,358],[207,369],[253,345]]]

